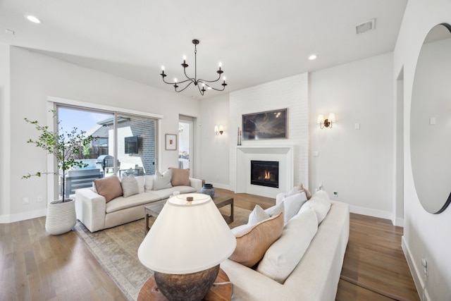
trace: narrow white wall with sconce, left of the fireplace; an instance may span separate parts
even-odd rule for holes
[[[229,141],[234,128],[229,124],[228,94],[201,101],[202,119],[199,133],[202,147],[199,149],[202,178],[214,187],[230,189],[229,185]],[[223,125],[223,135],[216,136],[215,125]]]

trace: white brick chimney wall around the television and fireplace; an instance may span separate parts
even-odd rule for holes
[[[309,185],[308,74],[303,73],[230,93],[231,190],[235,191],[237,130],[242,128],[242,114],[285,108],[288,108],[288,139],[244,140],[242,146],[294,146],[294,183]]]

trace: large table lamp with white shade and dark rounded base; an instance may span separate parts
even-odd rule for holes
[[[168,300],[197,301],[208,293],[219,264],[233,253],[235,235],[209,195],[168,199],[138,249]]]

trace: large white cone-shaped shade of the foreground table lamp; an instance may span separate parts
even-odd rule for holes
[[[187,197],[194,197],[188,204]],[[227,259],[236,238],[209,195],[190,193],[168,199],[138,249],[153,271],[188,274]]]

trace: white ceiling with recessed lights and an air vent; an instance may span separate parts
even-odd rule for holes
[[[0,43],[27,47],[80,66],[163,90],[197,74],[226,92],[393,51],[407,0],[0,0]],[[25,14],[42,24],[30,23]],[[355,26],[376,18],[376,30]],[[6,32],[13,30],[14,35]],[[309,61],[310,54],[318,59]],[[221,86],[219,86],[221,87]],[[184,92],[201,98],[194,87]],[[204,97],[220,92],[208,91]]]

